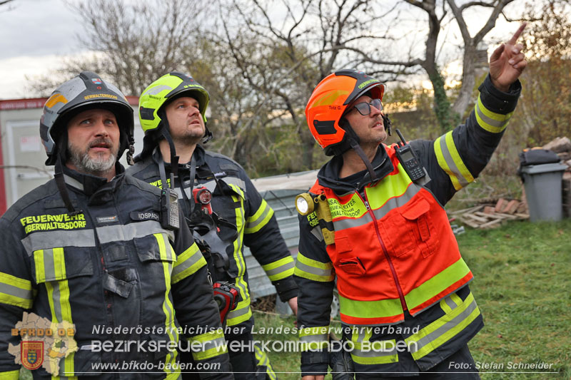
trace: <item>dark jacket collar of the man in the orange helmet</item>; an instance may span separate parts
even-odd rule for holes
[[[380,144],[375,158],[373,158],[373,168],[378,178],[383,179],[386,175],[394,170],[393,163],[390,161],[385,145]],[[343,165],[343,156],[336,155],[325,163],[319,170],[317,178],[319,185],[330,188],[338,195],[347,194],[355,190],[361,190],[368,185],[370,175],[367,170],[362,170],[345,178],[339,178],[339,172]]]

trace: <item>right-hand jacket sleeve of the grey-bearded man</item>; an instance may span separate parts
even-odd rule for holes
[[[177,256],[171,277],[176,319],[191,345],[194,361],[220,364],[216,372],[201,372],[201,379],[233,379],[206,260],[186,223],[181,223],[173,248]]]

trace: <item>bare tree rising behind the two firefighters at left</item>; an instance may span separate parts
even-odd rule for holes
[[[77,1],[69,5],[86,24],[82,46],[91,59],[68,62],[67,71],[99,70],[119,88],[138,95],[154,78],[189,66],[201,31],[200,0]],[[103,74],[102,74],[103,75]]]

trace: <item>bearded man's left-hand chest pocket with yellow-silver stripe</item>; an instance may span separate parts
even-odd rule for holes
[[[56,247],[34,250],[34,279],[36,284],[61,281],[94,274],[91,248]]]

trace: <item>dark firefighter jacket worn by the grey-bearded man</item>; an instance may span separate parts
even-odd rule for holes
[[[34,379],[177,379],[178,343],[194,343],[196,361],[228,371],[206,261],[190,231],[161,227],[160,191],[116,169],[107,182],[64,168],[77,215],[50,180],[1,217],[2,379],[18,379],[20,343],[28,366],[43,362]]]

